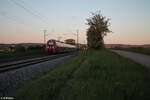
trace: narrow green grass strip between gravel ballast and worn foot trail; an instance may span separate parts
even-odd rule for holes
[[[52,100],[69,75],[78,67],[84,54],[80,54],[55,68],[45,76],[36,79],[17,90],[13,95],[17,100]]]

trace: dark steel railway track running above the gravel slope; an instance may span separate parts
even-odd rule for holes
[[[28,59],[28,60],[10,62],[10,63],[7,63],[7,64],[1,64],[0,65],[0,73],[11,71],[11,70],[18,69],[18,68],[27,67],[29,65],[45,62],[45,61],[48,61],[48,60],[56,59],[56,58],[59,58],[59,57],[70,55],[70,54],[71,53],[50,55],[50,56],[33,58],[33,59]]]

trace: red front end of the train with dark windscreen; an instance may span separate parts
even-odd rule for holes
[[[56,53],[56,42],[55,42],[55,40],[48,40],[47,41],[45,51],[49,54]]]

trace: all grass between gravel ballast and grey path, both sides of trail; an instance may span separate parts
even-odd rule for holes
[[[65,62],[24,88],[18,100],[55,100],[58,90],[83,56]],[[89,50],[58,100],[150,100],[150,69],[109,50]]]

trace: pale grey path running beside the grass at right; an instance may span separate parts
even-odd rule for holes
[[[139,53],[134,53],[134,52],[122,51],[122,50],[112,50],[112,51],[121,56],[130,58],[130,59],[150,68],[150,56],[147,56],[144,54],[139,54]]]

